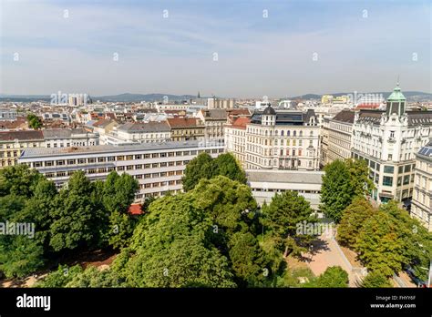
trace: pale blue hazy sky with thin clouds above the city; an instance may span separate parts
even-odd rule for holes
[[[423,0],[0,0],[0,94],[432,91]]]

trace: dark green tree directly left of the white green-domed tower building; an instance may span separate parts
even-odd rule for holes
[[[353,199],[365,196],[374,188],[374,184],[368,178],[365,160],[336,159],[326,165],[324,171],[320,210],[326,217],[339,223],[343,211]]]

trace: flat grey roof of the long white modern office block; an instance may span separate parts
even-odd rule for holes
[[[191,141],[176,141],[176,142],[151,142],[134,145],[99,145],[93,147],[69,147],[69,148],[25,148],[22,151],[20,158],[39,158],[52,156],[67,156],[75,154],[96,154],[96,153],[118,153],[127,151],[143,151],[143,150],[158,150],[158,149],[176,149],[176,148],[217,148],[222,147],[214,142],[206,144],[199,140]]]

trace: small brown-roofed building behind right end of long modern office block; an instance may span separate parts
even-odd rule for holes
[[[189,141],[205,138],[205,127],[199,118],[168,118],[172,141]]]

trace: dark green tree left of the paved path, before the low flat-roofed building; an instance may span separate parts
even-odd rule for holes
[[[282,242],[281,245],[285,249],[283,256],[286,257],[290,252],[300,255],[302,251],[306,251],[304,244],[308,243],[312,237],[307,232],[298,234],[298,224],[304,221],[314,224],[317,220],[314,210],[303,196],[293,190],[276,194],[262,213],[264,215],[262,224],[271,231],[273,237]]]

